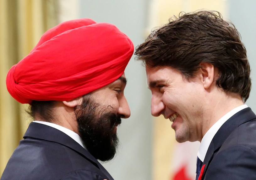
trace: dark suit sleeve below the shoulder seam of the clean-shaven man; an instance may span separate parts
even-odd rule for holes
[[[236,145],[219,151],[212,159],[205,179],[256,179],[256,153],[249,147]]]

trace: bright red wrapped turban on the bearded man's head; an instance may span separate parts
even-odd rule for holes
[[[116,26],[71,20],[43,34],[35,48],[8,72],[9,93],[20,103],[72,100],[117,80],[133,54]]]

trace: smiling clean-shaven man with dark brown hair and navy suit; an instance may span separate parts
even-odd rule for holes
[[[173,17],[135,54],[146,67],[151,113],[178,142],[200,141],[196,179],[256,179],[256,116],[244,105],[250,66],[240,34],[221,14]]]

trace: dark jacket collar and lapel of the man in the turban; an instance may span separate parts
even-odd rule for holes
[[[86,149],[84,149],[82,146],[80,146],[80,144],[74,141],[74,139],[72,139],[62,131],[59,131],[51,126],[31,122],[23,138],[25,137],[32,137],[36,139],[57,142],[59,144],[62,144],[63,146],[69,147],[81,154],[87,160],[89,160],[94,166],[98,167],[110,180],[113,180],[111,175],[95,159],[95,157],[93,157]]]

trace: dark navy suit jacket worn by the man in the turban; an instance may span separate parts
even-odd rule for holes
[[[106,169],[71,137],[32,122],[1,180],[113,180]]]

